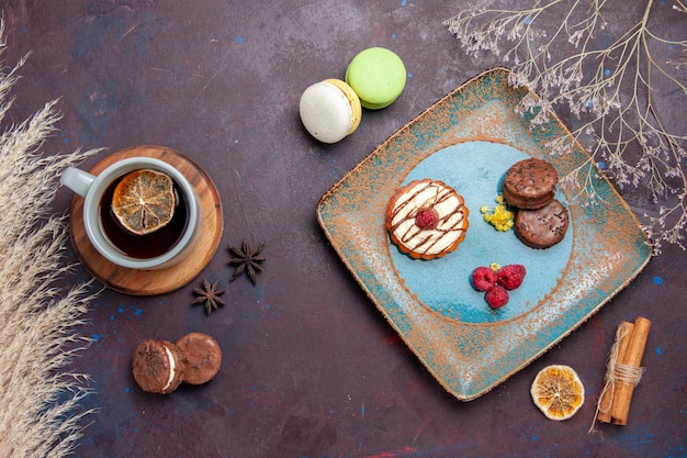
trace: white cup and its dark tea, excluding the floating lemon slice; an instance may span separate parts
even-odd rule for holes
[[[173,182],[176,209],[162,228],[145,235],[127,233],[112,213],[112,194],[127,174],[150,169]],[[83,197],[83,226],[93,247],[105,259],[128,269],[165,269],[182,261],[200,233],[200,204],[193,185],[177,168],[153,157],[119,160],[98,176],[75,167],[65,169],[60,182]]]

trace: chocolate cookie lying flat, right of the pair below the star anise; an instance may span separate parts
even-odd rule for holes
[[[191,333],[177,342],[183,365],[183,381],[203,384],[214,379],[222,366],[217,340],[203,333]]]

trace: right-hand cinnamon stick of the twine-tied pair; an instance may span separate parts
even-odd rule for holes
[[[642,316],[634,321],[630,342],[622,358],[621,368],[628,367],[640,370],[642,365],[642,356],[649,337],[651,322]],[[632,393],[637,381],[623,380],[622,378],[616,382],[613,393],[613,405],[611,407],[611,418],[616,425],[626,425],[628,423],[628,414],[630,413],[630,403],[632,402]]]

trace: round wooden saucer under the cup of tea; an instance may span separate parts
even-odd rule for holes
[[[71,244],[86,268],[116,291],[132,295],[155,295],[179,289],[193,280],[214,256],[224,220],[219,193],[210,176],[183,154],[161,146],[135,146],[116,152],[98,163],[89,172],[98,175],[108,166],[127,157],[155,157],[174,166],[191,181],[201,205],[201,237],[195,249],[182,262],[160,270],[120,267],[105,259],[88,239],[83,227],[83,198],[75,194],[69,214]]]

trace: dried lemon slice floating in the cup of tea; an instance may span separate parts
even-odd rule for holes
[[[137,235],[155,232],[174,215],[172,179],[162,172],[142,169],[124,176],[114,188],[112,212],[122,226]]]

